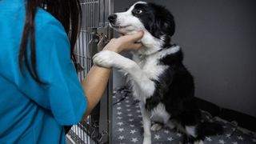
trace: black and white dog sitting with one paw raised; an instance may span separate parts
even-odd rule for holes
[[[94,64],[124,71],[134,97],[140,100],[144,127],[143,144],[151,143],[151,130],[162,124],[177,127],[184,133],[184,143],[198,142],[206,135],[217,134],[222,127],[201,122],[201,112],[194,102],[194,80],[182,64],[182,50],[170,44],[174,17],[163,6],[136,2],[129,10],[112,14],[110,26],[122,34],[144,30],[142,49],[133,51],[133,61],[112,51],[94,55]],[[151,126],[151,121],[156,122]]]

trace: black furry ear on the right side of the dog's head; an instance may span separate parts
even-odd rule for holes
[[[158,6],[153,3],[150,6],[154,9],[154,22],[150,26],[150,31],[156,37],[162,36],[162,34],[173,36],[175,32],[174,16],[164,6]]]

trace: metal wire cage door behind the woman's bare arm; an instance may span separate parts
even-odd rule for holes
[[[76,43],[75,54],[78,62],[78,77],[82,82],[93,65],[92,57],[98,52],[102,39],[112,38],[107,17],[113,12],[113,0],[81,0],[81,7],[82,29]],[[70,142],[111,143],[111,79],[101,102],[90,116],[70,129],[67,134]]]

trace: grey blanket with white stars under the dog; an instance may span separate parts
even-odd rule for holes
[[[224,128],[222,135],[206,137],[205,144],[250,144],[256,143],[256,134],[242,129],[235,122],[227,122],[218,117],[211,117],[202,111],[204,120],[219,122]],[[141,144],[143,140],[142,114],[138,101],[134,100],[130,90],[118,88],[113,95],[113,144]],[[177,130],[163,127],[162,130],[152,131],[153,144],[179,143],[182,134]]]

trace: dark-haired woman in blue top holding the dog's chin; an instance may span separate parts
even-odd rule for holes
[[[65,143],[63,127],[90,114],[110,76],[93,66],[78,82],[78,0],[0,0],[0,19],[0,143]],[[140,38],[112,39],[104,50],[137,50]]]

